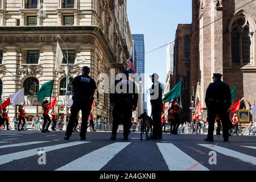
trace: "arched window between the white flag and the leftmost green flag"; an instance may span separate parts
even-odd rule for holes
[[[34,77],[29,77],[24,81],[23,87],[25,96],[35,96],[39,90],[39,81]]]

